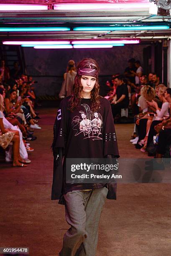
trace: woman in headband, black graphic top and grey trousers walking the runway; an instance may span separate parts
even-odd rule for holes
[[[66,183],[66,158],[119,157],[110,102],[99,96],[98,74],[95,60],[79,62],[73,94],[61,101],[54,124],[51,199],[65,205],[71,225],[60,256],[95,256],[105,198],[116,199],[115,183]]]

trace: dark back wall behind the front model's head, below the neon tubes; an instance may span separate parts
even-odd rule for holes
[[[24,55],[27,74],[33,75],[34,80],[38,80],[37,95],[57,95],[70,59],[78,63],[85,57],[91,57],[97,60],[101,76],[112,75],[123,73],[128,66],[128,59],[135,58],[143,64],[144,47],[146,46],[127,45],[112,49],[33,49],[25,47]],[[110,77],[100,77],[100,84],[105,84],[108,79]]]

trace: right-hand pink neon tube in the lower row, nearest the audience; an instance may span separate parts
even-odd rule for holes
[[[140,40],[89,40],[89,41],[72,41],[72,44],[139,44]]]

